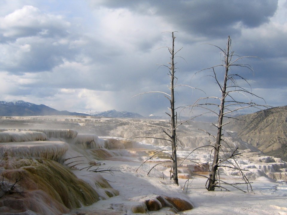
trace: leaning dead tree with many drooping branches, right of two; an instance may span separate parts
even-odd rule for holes
[[[233,73],[231,71],[232,67],[243,67],[247,68],[250,71],[253,71],[253,68],[249,64],[241,64],[239,61],[252,57],[252,56],[244,56],[240,57],[234,54],[234,52],[231,49],[231,39],[228,36],[227,41],[227,47],[226,49],[221,49],[218,46],[215,46],[219,48],[222,54],[222,63],[204,70],[210,70],[213,77],[215,79],[215,83],[218,85],[219,90],[221,92],[221,96],[211,96],[211,97],[205,97],[205,98],[199,98],[194,105],[192,105],[192,108],[194,107],[201,107],[207,110],[210,113],[215,113],[218,116],[217,124],[213,124],[217,129],[217,134],[215,135],[215,143],[213,147],[213,161],[210,169],[210,174],[206,182],[206,188],[208,191],[214,191],[216,187],[223,188],[222,184],[228,184],[226,182],[223,182],[219,177],[219,167],[228,167],[228,168],[235,168],[237,169],[241,176],[243,177],[244,181],[243,184],[250,185],[247,178],[243,174],[242,170],[240,169],[239,165],[236,164],[235,160],[233,162],[230,162],[229,159],[234,159],[234,156],[238,155],[236,153],[235,149],[233,152],[229,153],[229,156],[226,158],[220,158],[219,159],[219,153],[222,152],[222,142],[224,142],[224,139],[222,137],[222,131],[223,126],[227,125],[229,122],[225,122],[225,119],[236,119],[233,117],[234,113],[238,113],[242,109],[246,108],[257,108],[259,110],[262,110],[264,108],[268,108],[267,105],[259,105],[256,102],[253,102],[250,100],[250,97],[256,97],[257,99],[261,99],[266,104],[265,100],[254,93],[252,93],[251,85],[248,83],[248,80],[244,77],[240,76],[237,73]],[[219,80],[219,73],[216,72],[217,67],[223,67],[224,73],[223,73],[223,80],[222,82]],[[203,71],[203,70],[201,70]],[[200,71],[200,72],[201,72]],[[243,81],[245,84],[247,84],[248,88],[244,87],[243,85],[239,85],[238,81]],[[241,94],[248,98],[247,101],[239,101],[236,99],[236,94]],[[212,102],[210,102],[212,100]],[[219,102],[214,102],[219,101]],[[216,108],[214,108],[214,106]],[[218,111],[218,112],[217,112]],[[225,163],[228,162],[230,165],[226,165]],[[242,184],[242,183],[240,183]],[[228,184],[228,185],[234,185],[234,184]]]

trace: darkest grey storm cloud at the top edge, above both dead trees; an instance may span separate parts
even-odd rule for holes
[[[135,13],[162,16],[174,29],[205,37],[240,34],[240,27],[257,27],[268,22],[277,1],[91,1],[94,7],[128,8]]]

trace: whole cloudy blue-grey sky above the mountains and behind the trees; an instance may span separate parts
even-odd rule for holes
[[[71,112],[118,111],[164,115],[166,67],[175,33],[178,84],[218,96],[207,73],[232,50],[254,73],[252,92],[268,105],[287,105],[286,0],[0,0],[0,100],[24,100]],[[237,72],[237,71],[236,71]],[[176,89],[190,105],[199,90]],[[251,98],[252,99],[252,98]],[[255,99],[256,100],[256,99]]]

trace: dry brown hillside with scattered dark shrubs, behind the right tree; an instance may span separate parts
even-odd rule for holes
[[[228,129],[270,156],[287,160],[287,106],[240,116]]]

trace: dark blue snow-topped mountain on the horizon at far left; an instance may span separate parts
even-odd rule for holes
[[[0,101],[0,116],[47,116],[47,115],[63,115],[63,116],[88,116],[85,113],[69,112],[67,110],[56,110],[46,105],[35,105],[22,100],[4,102]]]

